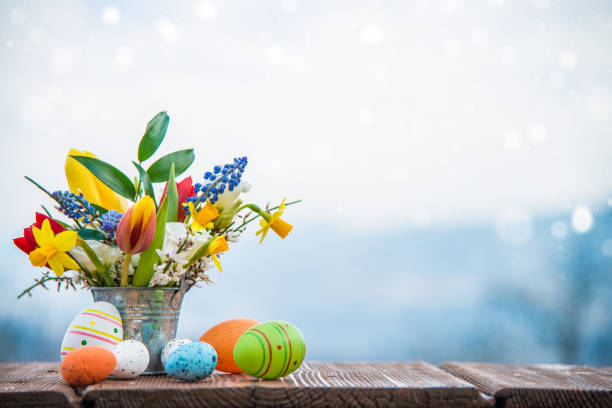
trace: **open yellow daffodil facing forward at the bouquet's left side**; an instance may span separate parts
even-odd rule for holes
[[[76,231],[64,231],[55,235],[49,220],[44,220],[42,228],[32,227],[32,233],[39,246],[39,248],[30,252],[29,257],[32,265],[45,266],[49,264],[57,276],[62,276],[66,269],[79,269],[79,264],[66,253],[76,245]]]

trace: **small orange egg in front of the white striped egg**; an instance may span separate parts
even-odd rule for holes
[[[85,346],[66,354],[60,372],[68,384],[84,387],[108,377],[116,362],[112,351],[97,346]]]

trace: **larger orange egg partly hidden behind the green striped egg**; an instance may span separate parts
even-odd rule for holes
[[[253,319],[226,320],[211,327],[200,337],[200,341],[210,344],[217,351],[217,370],[224,373],[242,372],[234,361],[234,346],[244,332],[258,324],[259,322]]]

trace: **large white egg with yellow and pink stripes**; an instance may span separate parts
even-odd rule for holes
[[[63,359],[70,351],[84,346],[111,349],[123,340],[123,322],[115,306],[95,302],[83,309],[68,327],[60,350]]]

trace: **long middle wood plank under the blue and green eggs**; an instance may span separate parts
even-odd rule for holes
[[[275,381],[214,374],[195,383],[166,376],[104,381],[87,388],[96,407],[488,407],[471,384],[424,362],[307,362]]]

